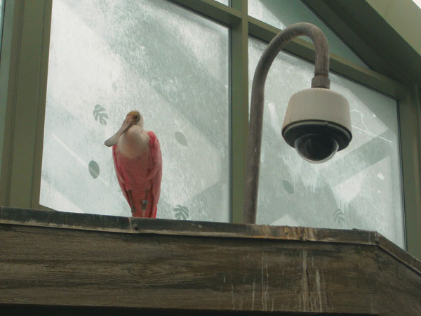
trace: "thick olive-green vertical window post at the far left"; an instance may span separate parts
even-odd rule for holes
[[[4,167],[8,174],[2,175],[1,183],[2,191],[6,192],[6,197],[2,197],[6,205],[37,206],[37,202],[32,201],[32,195],[36,182],[34,173],[37,172],[37,168],[41,169],[41,164],[38,166],[35,164],[36,152],[40,154],[42,150],[36,139],[42,138],[42,135],[38,134],[39,125],[42,125],[42,122],[39,122],[39,114],[44,112],[44,104],[39,98],[39,79],[46,2],[49,1],[25,1],[19,7],[21,18],[17,15],[14,17],[19,20],[20,32],[12,40],[12,46],[15,45],[12,54],[16,59],[11,58],[11,67],[14,67],[11,71],[16,77],[13,86],[8,90],[6,105],[8,124],[5,135],[8,135],[8,145],[5,147],[5,152],[7,150],[10,160],[4,162],[7,163]],[[14,24],[15,27],[17,26]]]

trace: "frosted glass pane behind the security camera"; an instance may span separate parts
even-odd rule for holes
[[[251,86],[267,44],[251,38],[249,43]],[[313,75],[313,64],[286,53],[278,55],[269,71],[258,223],[377,230],[403,247],[396,101],[330,74],[330,88],[349,101],[353,139],[328,162],[311,164],[285,143],[281,127],[290,96],[309,88]]]

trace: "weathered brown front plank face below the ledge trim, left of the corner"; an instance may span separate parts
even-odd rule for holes
[[[374,313],[375,247],[0,225],[0,303]]]

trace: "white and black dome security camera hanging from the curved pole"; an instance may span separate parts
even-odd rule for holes
[[[295,93],[288,103],[282,136],[308,162],[326,162],[352,139],[347,99],[327,88]]]

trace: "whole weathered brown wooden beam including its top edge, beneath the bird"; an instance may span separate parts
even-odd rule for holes
[[[376,232],[1,207],[0,245],[0,310],[421,315],[420,261]]]

